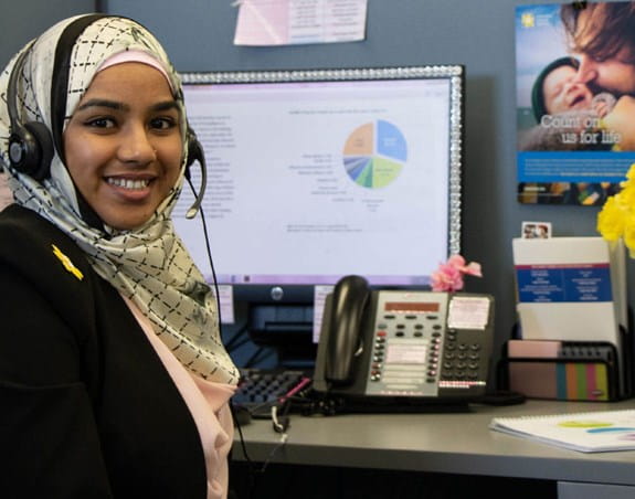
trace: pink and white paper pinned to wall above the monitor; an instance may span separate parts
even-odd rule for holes
[[[236,45],[296,45],[363,40],[368,0],[242,0]]]

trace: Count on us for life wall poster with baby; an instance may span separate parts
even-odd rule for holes
[[[635,163],[635,2],[516,8],[518,201],[601,205]]]

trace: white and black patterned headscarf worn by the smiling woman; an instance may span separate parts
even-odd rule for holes
[[[82,214],[85,213],[82,199],[64,166],[62,137],[55,129],[65,128],[99,67],[112,56],[124,51],[141,51],[165,70],[183,117],[184,151],[188,145],[181,83],[155,36],[133,20],[100,17],[77,38],[66,41],[66,28],[80,18],[85,17],[59,22],[22,50],[28,54],[17,86],[19,118],[22,123],[45,124],[53,130],[55,141],[51,174],[42,182],[15,171],[9,162],[10,117],[6,95],[18,55],[0,75],[0,160],[8,170],[15,202],[38,212],[71,236],[86,253],[96,273],[136,304],[151,321],[157,336],[188,370],[210,381],[235,383],[236,368],[220,339],[216,300],[174,233],[170,219],[183,184],[187,152],[177,184],[141,227],[118,231],[103,225],[97,229]],[[56,51],[63,43],[73,44],[67,68],[56,63]],[[55,72],[67,72],[63,74],[67,75],[66,87],[52,88],[60,86]],[[62,93],[63,98],[57,100],[65,98],[65,109],[53,109],[52,91]]]

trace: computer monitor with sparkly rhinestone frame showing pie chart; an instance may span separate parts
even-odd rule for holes
[[[459,252],[463,66],[181,76],[215,278],[235,299],[310,300],[349,274],[426,287]],[[211,282],[193,199],[186,187],[174,223]]]

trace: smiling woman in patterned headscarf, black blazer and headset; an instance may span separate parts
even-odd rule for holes
[[[237,371],[170,221],[193,138],[162,47],[67,19],[0,94],[2,496],[225,497]]]

